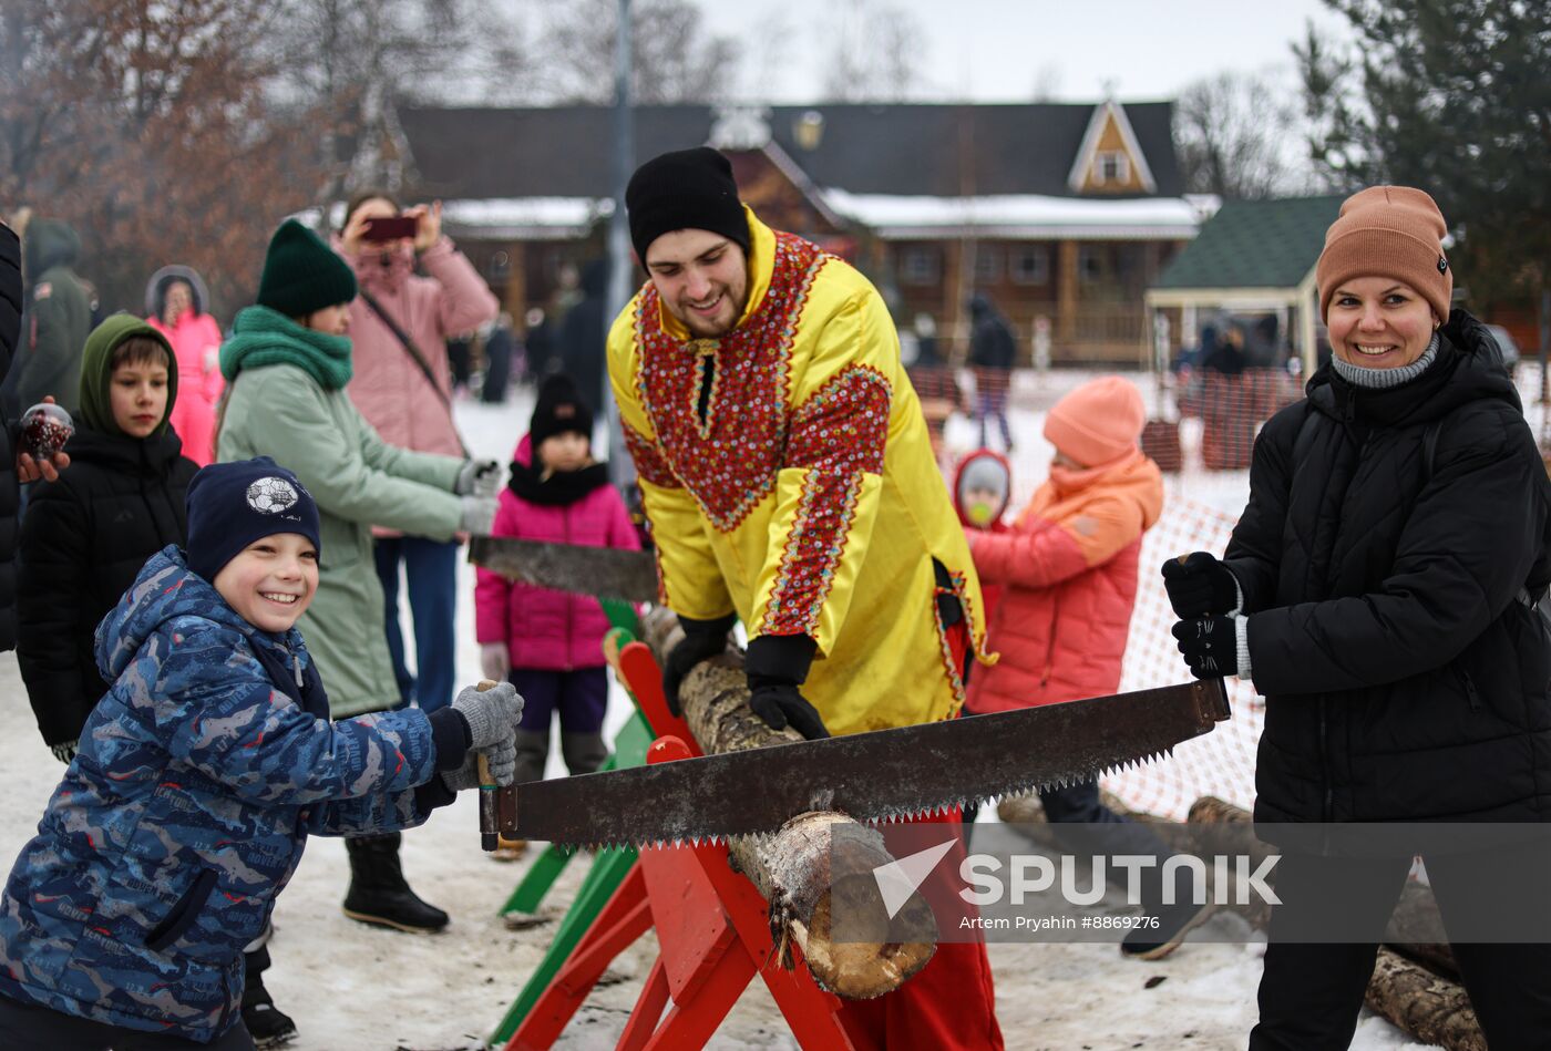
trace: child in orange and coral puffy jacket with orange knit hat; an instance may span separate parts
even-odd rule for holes
[[[1137,445],[1145,422],[1142,394],[1129,381],[1101,377],[1076,388],[1045,419],[1056,454],[1028,507],[1005,530],[968,530],[982,588],[1000,592],[988,632],[1000,660],[976,668],[969,715],[1120,688],[1142,535],[1163,510],[1163,476]],[[1098,826],[1084,840],[1098,837],[1101,853],[1152,856],[1159,868],[1169,854],[1152,832],[1104,806],[1097,781],[1042,791],[1039,801],[1053,823]],[[1121,952],[1159,960],[1210,910],[1188,896],[1162,905],[1159,870],[1146,871],[1152,877],[1143,879],[1142,896],[1159,925],[1135,929]]]

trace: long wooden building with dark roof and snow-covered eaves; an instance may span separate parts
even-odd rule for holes
[[[901,327],[929,315],[968,343],[968,301],[1002,310],[1028,360],[1145,361],[1143,304],[1214,198],[1185,197],[1169,102],[1123,105],[665,105],[636,110],[636,152],[709,143],[760,217],[822,243],[883,290]],[[603,253],[606,107],[399,110],[414,197],[507,308],[563,302]]]

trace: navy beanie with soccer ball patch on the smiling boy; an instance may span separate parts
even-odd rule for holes
[[[200,468],[183,499],[188,564],[209,583],[244,547],[276,533],[301,533],[323,555],[318,504],[295,474],[267,456]]]

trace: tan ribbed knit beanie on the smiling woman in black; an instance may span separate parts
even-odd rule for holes
[[[1340,217],[1325,233],[1325,251],[1315,270],[1320,316],[1331,313],[1331,298],[1352,277],[1404,281],[1449,321],[1453,271],[1444,259],[1449,233],[1432,197],[1410,186],[1370,186],[1342,202]]]

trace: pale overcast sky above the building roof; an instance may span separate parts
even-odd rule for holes
[[[1349,39],[1318,0],[701,0],[706,28],[744,48],[744,93],[783,104],[819,101],[839,26],[887,5],[923,29],[932,99],[1087,101],[1111,82],[1121,99],[1166,99],[1222,70],[1290,81],[1311,19]]]

